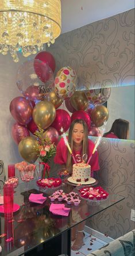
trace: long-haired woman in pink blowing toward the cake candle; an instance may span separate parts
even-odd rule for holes
[[[95,144],[88,139],[87,124],[84,120],[76,119],[71,123],[68,132],[68,143],[70,144],[77,163],[82,162],[82,156],[84,154],[87,154],[88,158],[92,155],[92,150]],[[72,159],[63,138],[57,144],[54,161],[63,167],[67,167],[67,169],[70,170],[70,174],[72,174],[72,165],[74,164],[74,160]],[[91,177],[93,177],[94,171],[99,170],[98,151],[95,151],[95,153],[92,155],[89,164],[91,165]],[[79,250],[80,247],[82,247],[84,224],[85,223],[83,221],[83,223],[78,224],[77,228],[72,228],[71,239],[75,240],[74,244],[72,245],[72,250]]]

